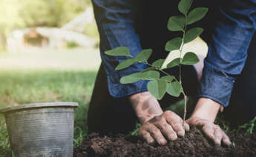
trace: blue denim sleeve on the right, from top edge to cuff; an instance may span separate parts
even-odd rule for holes
[[[230,0],[220,6],[209,42],[199,97],[228,106],[235,77],[241,73],[256,28],[256,0]]]

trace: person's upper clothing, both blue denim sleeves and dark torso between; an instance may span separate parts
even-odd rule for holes
[[[124,70],[114,70],[128,57],[107,56],[104,52],[125,46],[130,49],[131,56],[137,56],[142,49],[152,48],[154,53],[150,61],[165,58],[168,54],[164,50],[166,41],[180,36],[180,33],[170,32],[166,27],[169,16],[180,14],[177,10],[180,0],[92,1],[100,35],[102,64],[111,96],[121,98],[146,91],[148,81],[131,84],[119,81],[122,76],[144,70],[146,64],[137,63]],[[209,45],[198,97],[211,98],[226,107],[256,30],[256,0],[197,0],[193,5],[209,7],[203,21],[194,24],[206,30],[202,37]]]

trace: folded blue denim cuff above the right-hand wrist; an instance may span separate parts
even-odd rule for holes
[[[227,107],[232,95],[234,81],[234,77],[217,70],[205,61],[203,76],[198,88],[198,97],[211,98]]]

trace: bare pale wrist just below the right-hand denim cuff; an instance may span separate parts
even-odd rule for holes
[[[221,108],[221,104],[211,100],[210,98],[199,98],[199,100],[197,101],[197,105],[194,108],[194,112],[191,115],[191,118],[203,118],[214,122],[217,113]]]

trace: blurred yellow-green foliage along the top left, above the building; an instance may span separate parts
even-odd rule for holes
[[[91,6],[91,0],[1,0],[0,45],[10,31],[24,27],[61,27]]]

